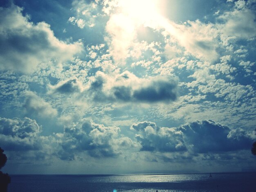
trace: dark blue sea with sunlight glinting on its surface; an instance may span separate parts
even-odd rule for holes
[[[256,173],[11,175],[8,192],[256,192]]]

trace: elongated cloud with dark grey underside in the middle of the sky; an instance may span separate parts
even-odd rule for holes
[[[89,91],[97,101],[169,102],[177,98],[177,81],[170,76],[138,78],[129,71],[112,77],[98,71]]]

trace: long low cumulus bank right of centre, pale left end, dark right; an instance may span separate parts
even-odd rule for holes
[[[157,127],[152,122],[135,123],[141,150],[155,152],[209,153],[249,149],[252,136],[241,128],[231,129],[214,121],[194,121],[180,127]]]

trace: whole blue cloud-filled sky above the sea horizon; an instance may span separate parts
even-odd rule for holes
[[[256,0],[3,0],[9,174],[255,170]]]

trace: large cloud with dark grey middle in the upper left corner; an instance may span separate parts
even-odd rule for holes
[[[82,44],[58,40],[45,22],[34,24],[22,16],[22,8],[0,7],[0,69],[29,73],[40,63],[61,63],[80,53]]]

